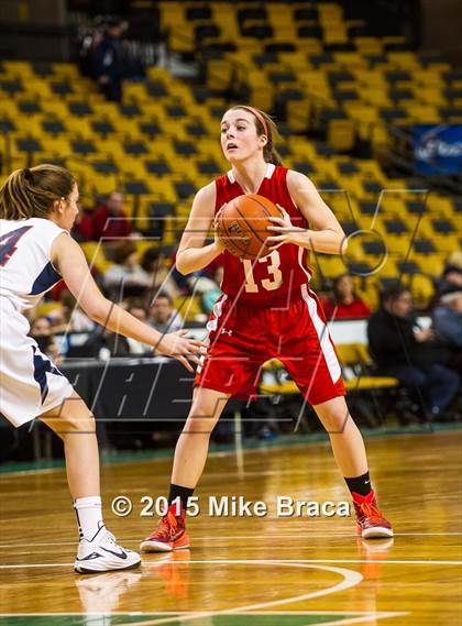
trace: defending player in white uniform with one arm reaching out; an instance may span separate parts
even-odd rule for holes
[[[61,278],[94,321],[175,356],[190,372],[202,342],[184,330],[161,334],[110,303],[69,237],[78,213],[72,174],[55,165],[13,172],[0,188],[0,413],[14,426],[38,418],[64,442],[79,530],[80,573],[133,568],[136,552],[116,543],[101,514],[95,418],[67,378],[28,337],[24,316]]]

